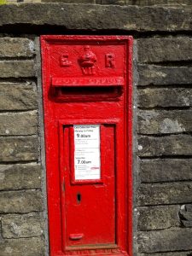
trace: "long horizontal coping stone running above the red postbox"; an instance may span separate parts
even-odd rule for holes
[[[138,6],[65,3],[5,4],[0,7],[0,17],[0,26],[55,25],[73,30],[118,29],[129,32],[133,30],[167,32],[192,29],[192,9],[183,7],[141,8]]]

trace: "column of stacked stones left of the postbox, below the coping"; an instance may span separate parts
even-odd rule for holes
[[[44,255],[34,37],[0,38],[0,255]]]

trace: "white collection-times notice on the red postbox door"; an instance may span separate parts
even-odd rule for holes
[[[75,180],[101,178],[100,125],[73,125]]]

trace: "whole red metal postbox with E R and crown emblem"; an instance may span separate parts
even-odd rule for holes
[[[131,256],[128,36],[42,36],[50,255]]]

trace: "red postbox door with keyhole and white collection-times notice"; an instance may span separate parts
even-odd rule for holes
[[[113,125],[79,126],[83,126],[83,130],[80,130],[84,132],[83,134],[74,132],[74,125],[63,126],[63,162],[61,163],[65,187],[62,193],[62,233],[65,234],[63,246],[65,249],[82,246],[113,247],[115,245],[114,127]],[[81,139],[75,140],[75,137]],[[99,152],[96,152],[97,148],[90,148],[89,140],[90,143],[93,141],[93,147],[94,142],[99,145]],[[75,147],[82,145],[83,149],[77,148],[79,151],[76,156]]]

